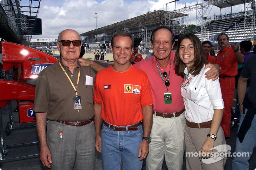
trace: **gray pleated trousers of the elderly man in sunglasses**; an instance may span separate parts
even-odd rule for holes
[[[48,120],[47,144],[52,155],[51,170],[95,169],[94,122],[76,127]]]

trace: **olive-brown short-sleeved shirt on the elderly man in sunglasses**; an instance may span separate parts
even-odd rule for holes
[[[69,68],[62,62],[61,64],[75,86],[80,68],[80,78],[76,89],[78,96],[81,97],[82,109],[74,109],[75,90],[57,62],[42,70],[38,75],[33,111],[46,112],[46,118],[52,121],[90,120],[95,115],[93,109],[94,71],[90,67],[80,66],[78,61],[78,66],[72,75]]]

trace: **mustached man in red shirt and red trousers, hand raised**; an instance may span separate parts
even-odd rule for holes
[[[224,100],[224,112],[221,126],[226,139],[230,137],[231,107],[235,92],[235,76],[237,74],[237,63],[244,63],[244,55],[238,50],[236,42],[228,45],[228,35],[220,33],[218,43],[220,51],[217,52],[216,64],[220,65],[220,88]]]

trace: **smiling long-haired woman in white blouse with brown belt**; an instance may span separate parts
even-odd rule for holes
[[[223,99],[219,81],[205,78],[209,68],[202,53],[202,45],[192,33],[181,35],[176,48],[174,65],[178,76],[184,77],[181,95],[186,108],[186,166],[187,170],[223,170],[226,157],[213,158],[224,152],[226,144],[220,122]]]

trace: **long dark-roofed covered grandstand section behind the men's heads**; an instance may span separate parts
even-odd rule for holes
[[[170,11],[168,11],[170,12]],[[174,15],[173,15],[174,16]],[[176,17],[187,16],[186,14],[177,14]],[[175,18],[175,17],[172,17]],[[173,22],[175,23],[175,22]],[[99,41],[110,41],[111,37],[116,32],[125,31],[130,33],[134,38],[141,37],[143,40],[141,45],[150,46],[148,43],[150,40],[151,32],[158,26],[165,24],[165,11],[158,10],[153,12],[148,12],[146,14],[126,19],[108,26],[103,26],[95,30],[82,33],[83,42],[87,44],[94,44]],[[172,25],[172,24],[170,24]],[[99,40],[95,38],[96,35],[104,34],[104,36],[99,37]]]

